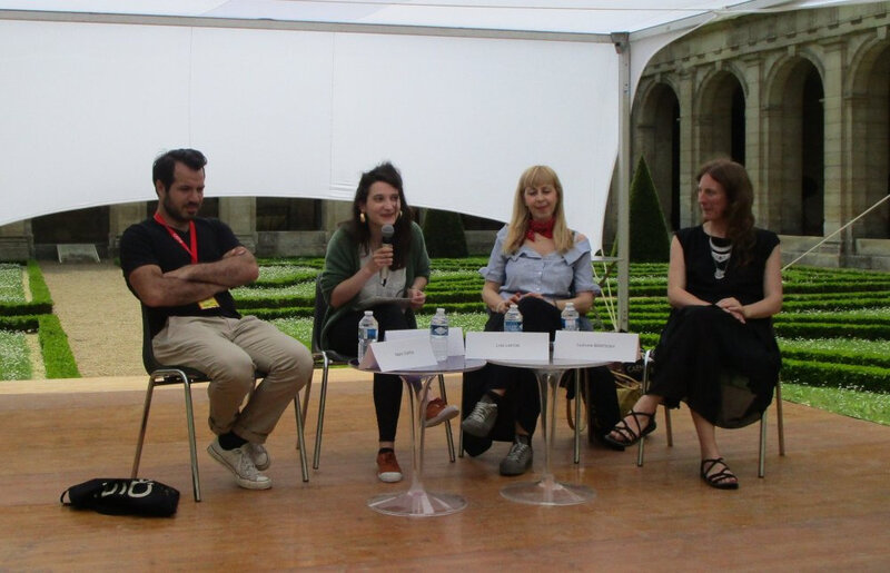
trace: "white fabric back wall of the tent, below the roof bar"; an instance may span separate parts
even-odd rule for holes
[[[500,219],[547,164],[597,246],[616,78],[609,43],[0,21],[0,224],[151,199],[196,147],[208,196],[349,199],[388,159],[411,204]]]

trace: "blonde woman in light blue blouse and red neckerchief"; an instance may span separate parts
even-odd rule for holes
[[[504,314],[511,304],[520,308],[523,330],[550,333],[551,337],[562,327],[561,314],[567,303],[573,303],[582,317],[591,309],[600,293],[593,281],[591,245],[566,226],[563,188],[553,169],[534,166],[522,174],[513,217],[497,233],[488,265],[479,273],[485,278],[482,299],[490,313],[488,332],[504,329]],[[462,423],[467,453],[485,452],[492,435],[512,434],[513,445],[501,462],[501,474],[525,473],[532,466],[531,436],[541,412],[534,375],[527,369],[488,365],[467,374],[465,385],[467,395],[479,396],[475,405],[469,402],[473,409],[465,412]],[[601,421],[601,427],[607,429],[620,417],[615,388],[599,386],[594,393],[599,396],[604,391],[605,399],[594,401],[609,403]]]

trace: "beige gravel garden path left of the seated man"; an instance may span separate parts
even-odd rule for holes
[[[40,261],[80,374],[145,375],[139,303],[112,263]]]

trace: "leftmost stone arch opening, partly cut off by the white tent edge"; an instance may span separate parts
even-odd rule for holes
[[[646,86],[637,101],[634,122],[637,151],[649,165],[665,223],[671,229],[678,229],[680,228],[680,98],[671,82],[656,81]]]

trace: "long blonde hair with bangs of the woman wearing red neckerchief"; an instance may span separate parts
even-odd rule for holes
[[[528,229],[528,221],[532,216],[525,206],[525,189],[550,185],[556,189],[556,208],[553,210],[553,243],[556,250],[563,254],[575,245],[572,231],[565,224],[565,211],[563,209],[563,185],[556,177],[556,171],[545,165],[535,165],[523,171],[520,182],[516,185],[516,195],[513,198],[513,217],[507,227],[507,237],[504,241],[504,253],[512,255],[516,253],[522,244],[525,243],[525,231]]]

